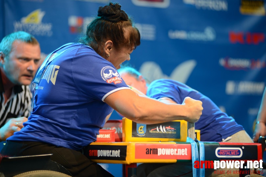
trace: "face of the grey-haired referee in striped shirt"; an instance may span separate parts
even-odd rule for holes
[[[9,57],[4,59],[4,73],[16,85],[29,85],[38,69],[40,59],[39,45],[14,41]]]

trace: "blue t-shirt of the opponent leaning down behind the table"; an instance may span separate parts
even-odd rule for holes
[[[202,115],[195,123],[195,129],[200,130],[201,141],[221,142],[222,139],[244,130],[233,117],[222,112],[207,96],[178,81],[153,81],[148,87],[147,96],[154,99],[168,97],[178,104],[182,104],[187,96],[202,101]]]

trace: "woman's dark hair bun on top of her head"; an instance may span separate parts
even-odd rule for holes
[[[121,5],[118,4],[117,2],[114,4],[110,2],[109,5],[106,5],[104,7],[99,6],[98,16],[103,17],[104,19],[110,22],[128,20],[128,14],[125,11],[121,10]]]

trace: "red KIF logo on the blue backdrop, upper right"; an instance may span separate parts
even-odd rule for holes
[[[251,32],[229,32],[229,41],[233,44],[249,44],[258,45],[265,41],[264,33],[251,33]]]

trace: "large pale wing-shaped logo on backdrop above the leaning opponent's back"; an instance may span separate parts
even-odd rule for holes
[[[175,67],[170,76],[167,76],[157,63],[148,61],[141,65],[139,72],[147,78],[149,82],[157,79],[172,79],[181,83],[186,83],[196,64],[196,60],[184,61]]]

